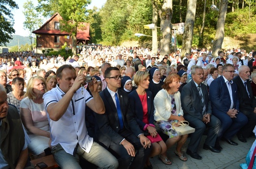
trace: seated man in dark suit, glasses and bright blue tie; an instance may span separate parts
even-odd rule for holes
[[[107,88],[100,97],[106,111],[99,116],[95,114],[96,137],[116,156],[119,169],[142,169],[151,152],[151,142],[134,119],[128,94],[119,90],[122,79],[119,69],[107,68],[105,79]]]

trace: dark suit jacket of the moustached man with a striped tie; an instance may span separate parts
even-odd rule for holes
[[[206,106],[206,113],[212,114],[211,102],[208,96],[208,88],[203,83],[201,83],[201,90]],[[182,88],[181,106],[183,108],[184,115],[190,114],[197,119],[203,119],[203,103],[193,80]]]

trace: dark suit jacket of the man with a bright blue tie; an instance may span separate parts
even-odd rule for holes
[[[135,120],[134,112],[130,109],[130,101],[126,92],[118,89],[118,97],[124,122],[124,129],[122,130],[119,125],[117,108],[107,88],[100,92],[99,95],[106,109],[104,114],[100,115],[95,113],[97,123],[96,138],[99,142],[107,147],[110,146],[111,142],[119,145],[128,135],[134,134],[138,136],[143,133]]]

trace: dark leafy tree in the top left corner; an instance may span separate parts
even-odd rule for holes
[[[11,34],[15,33],[11,10],[18,8],[18,5],[13,0],[0,0],[0,46],[9,43],[12,39]]]

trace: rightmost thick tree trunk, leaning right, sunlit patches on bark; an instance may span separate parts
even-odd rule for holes
[[[222,43],[224,40],[224,25],[225,25],[225,19],[226,19],[226,10],[227,10],[227,3],[228,0],[221,0],[220,2],[220,12],[219,17],[217,21],[217,28],[216,28],[216,34],[213,41],[213,56],[218,56],[218,51],[222,48]]]

